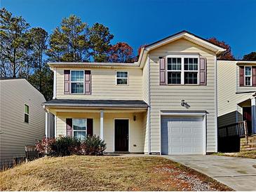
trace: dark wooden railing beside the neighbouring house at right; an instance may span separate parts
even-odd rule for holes
[[[241,121],[231,125],[225,125],[218,128],[218,137],[245,137],[246,142],[248,142],[248,128],[247,122]]]

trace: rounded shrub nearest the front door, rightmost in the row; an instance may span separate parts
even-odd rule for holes
[[[88,156],[102,156],[106,150],[107,144],[100,137],[88,136],[83,140],[81,149],[83,154]]]

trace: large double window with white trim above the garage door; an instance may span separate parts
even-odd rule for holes
[[[167,57],[167,83],[198,85],[198,56]]]

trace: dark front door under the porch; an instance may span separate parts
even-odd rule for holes
[[[128,151],[129,147],[129,121],[128,119],[115,119],[114,121],[115,151]]]

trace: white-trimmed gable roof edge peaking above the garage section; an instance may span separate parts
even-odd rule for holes
[[[160,46],[163,46],[167,43],[176,41],[177,39],[181,39],[181,38],[187,39],[188,41],[198,44],[199,46],[208,48],[209,50],[212,50],[215,53],[220,53],[220,52],[226,50],[222,46],[218,46],[215,43],[212,43],[212,42],[208,41],[207,39],[203,39],[201,36],[197,36],[196,34],[192,34],[191,32],[187,32],[186,30],[177,32],[176,34],[167,36],[166,38],[163,38],[159,41],[151,43],[151,44],[145,46],[144,49],[145,50],[153,50],[155,48],[158,48]]]

